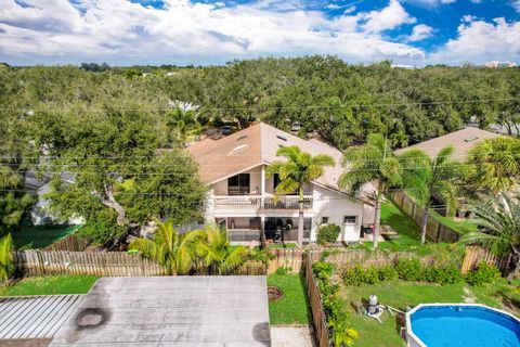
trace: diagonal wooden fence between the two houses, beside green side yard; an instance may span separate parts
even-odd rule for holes
[[[408,195],[403,192],[395,191],[390,193],[390,196],[395,205],[398,205],[406,215],[408,215],[417,226],[422,223],[424,209],[420,208]],[[460,235],[456,231],[444,224],[441,224],[430,215],[426,227],[426,239],[429,242],[455,243],[459,237]]]

